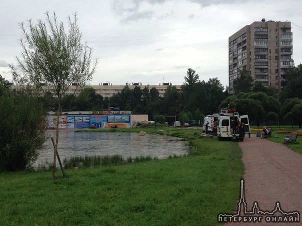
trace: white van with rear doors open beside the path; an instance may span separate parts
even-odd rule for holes
[[[218,115],[217,123],[217,138],[218,140],[223,139],[234,139],[239,140],[239,131],[236,128],[238,122],[243,122],[244,133],[250,133],[248,115],[239,116],[236,109],[221,109],[221,113]],[[243,138],[241,138],[243,141]]]

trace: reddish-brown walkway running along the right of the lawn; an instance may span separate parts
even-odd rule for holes
[[[298,137],[297,141],[299,141]],[[243,152],[244,187],[247,210],[251,211],[253,203],[258,202],[259,209],[272,211],[276,202],[285,212],[302,213],[302,155],[288,149],[284,144],[277,144],[255,135],[245,136],[239,143]],[[238,182],[239,192],[239,182]],[[239,194],[238,194],[239,195]],[[300,223],[270,223],[264,219],[261,223],[232,223],[230,225],[302,225]]]

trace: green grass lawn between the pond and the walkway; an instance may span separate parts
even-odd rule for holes
[[[217,214],[236,208],[244,170],[238,144],[204,138],[200,129],[162,130],[187,140],[190,154],[69,169],[55,181],[49,171],[0,174],[0,225],[220,225]]]

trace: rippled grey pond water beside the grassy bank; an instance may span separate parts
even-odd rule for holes
[[[47,137],[55,139],[55,131],[47,131]],[[173,155],[187,154],[189,147],[179,138],[160,136],[157,134],[106,133],[59,131],[58,154],[63,161],[72,156],[107,156],[121,155],[124,159],[136,156],[152,156],[158,159]],[[45,142],[44,150],[33,166],[52,163],[53,146],[51,139]],[[58,164],[58,163],[57,163]]]

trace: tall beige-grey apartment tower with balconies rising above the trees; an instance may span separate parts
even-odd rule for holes
[[[255,21],[228,38],[228,84],[246,69],[254,82],[273,86],[279,92],[286,82],[286,70],[293,65],[290,22]]]

